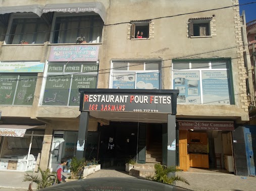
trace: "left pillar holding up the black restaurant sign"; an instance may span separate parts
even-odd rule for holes
[[[85,157],[85,148],[87,143],[87,134],[89,126],[89,112],[81,112],[79,121],[79,130],[76,146],[76,157],[82,159]]]

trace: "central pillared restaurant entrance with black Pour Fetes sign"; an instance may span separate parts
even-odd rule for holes
[[[125,166],[151,160],[176,165],[176,99],[178,90],[158,89],[79,89],[80,124],[76,156],[88,155],[89,116],[110,121],[99,125],[99,159],[103,167]],[[87,138],[87,139],[86,139]],[[152,153],[156,152],[156,153]],[[156,155],[155,155],[156,154]],[[149,156],[149,157],[148,157]],[[150,159],[149,159],[150,158]],[[157,161],[158,160],[158,161]]]

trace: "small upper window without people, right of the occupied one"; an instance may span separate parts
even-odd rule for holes
[[[194,18],[188,20],[188,37],[211,36],[212,18]]]

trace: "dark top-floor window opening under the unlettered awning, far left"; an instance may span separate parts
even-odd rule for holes
[[[31,18],[30,14],[26,14],[28,18],[15,18],[19,16],[16,15],[12,17],[11,25],[8,27],[7,44],[20,44],[22,40],[29,44],[42,44],[48,41],[45,39],[48,25],[42,18]]]

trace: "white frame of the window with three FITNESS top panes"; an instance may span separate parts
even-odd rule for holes
[[[48,66],[50,64],[60,64],[60,65],[63,65],[64,68],[63,68],[63,72],[48,72]],[[45,62],[45,69],[44,69],[44,72],[43,72],[43,80],[42,80],[42,85],[41,85],[41,92],[40,92],[40,99],[39,99],[39,102],[38,102],[38,106],[42,106],[42,107],[74,107],[74,108],[77,108],[79,106],[69,106],[69,101],[70,101],[70,94],[71,94],[71,87],[72,87],[72,80],[73,80],[73,76],[74,75],[91,75],[91,76],[97,76],[97,79],[96,79],[96,85],[95,85],[95,88],[97,88],[97,85],[98,85],[98,70],[97,71],[93,71],[93,72],[82,72],[82,68],[81,67],[81,70],[80,72],[65,72],[65,68],[67,66],[68,63],[66,62],[48,62],[46,60]],[[99,69],[99,62],[78,62],[78,63],[69,63],[69,64],[76,64],[76,65],[89,65],[89,64],[95,64],[95,65],[98,65],[98,69]],[[45,85],[46,85],[46,81],[47,81],[47,76],[48,75],[71,75],[71,79],[70,79],[70,85],[69,85],[69,95],[68,95],[68,102],[67,102],[67,105],[65,106],[58,106],[58,105],[43,105],[43,99],[44,99],[44,90],[45,90]]]

